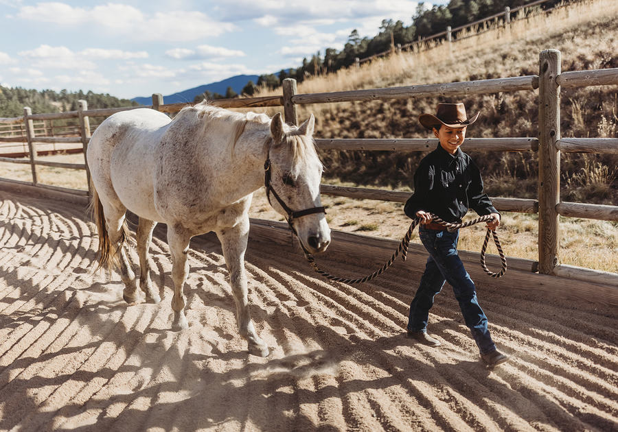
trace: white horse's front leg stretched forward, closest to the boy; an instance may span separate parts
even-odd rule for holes
[[[247,300],[244,252],[247,250],[247,240],[249,239],[249,217],[244,217],[233,228],[217,230],[217,236],[221,242],[223,256],[225,256],[225,263],[229,272],[229,282],[236,302],[236,321],[240,335],[249,342],[249,354],[266,357],[268,346],[255,331],[249,312],[249,300]]]

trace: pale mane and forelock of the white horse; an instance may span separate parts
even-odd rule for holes
[[[197,111],[198,118],[205,122],[205,126],[214,122],[222,122],[230,125],[231,135],[233,136],[233,140],[230,141],[232,155],[236,148],[236,142],[240,139],[247,125],[250,127],[255,125],[258,126],[258,128],[262,126],[266,136],[264,141],[265,150],[273,144],[273,139],[270,134],[271,117],[268,117],[266,114],[231,111],[213,106],[209,104],[209,101],[206,99],[194,106],[185,106],[185,108],[181,109],[179,115],[185,110]],[[301,135],[296,130],[286,130],[286,135],[288,136],[288,141],[291,144],[290,147],[293,152],[293,165],[296,166],[298,163],[304,162],[308,156],[315,155],[317,157],[317,150],[313,139],[302,139]]]

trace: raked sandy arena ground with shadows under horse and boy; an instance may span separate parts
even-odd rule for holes
[[[251,241],[249,300],[266,359],[247,355],[215,237],[192,241],[190,328],[170,331],[164,230],[151,247],[160,304],[128,306],[93,274],[84,206],[0,191],[0,430],[615,431],[616,307],[479,286],[496,344],[481,363],[445,287],[429,331],[404,337],[419,274],[329,283],[299,248]],[[137,254],[130,254],[137,262]],[[333,273],[367,274],[345,254]]]

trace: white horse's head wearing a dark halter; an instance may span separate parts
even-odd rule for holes
[[[320,202],[323,168],[313,143],[314,125],[313,115],[296,127],[286,125],[277,113],[271,120],[270,166],[264,167],[271,206],[290,221],[311,253],[323,252],[330,243],[330,228]]]

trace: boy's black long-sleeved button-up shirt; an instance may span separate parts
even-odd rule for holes
[[[483,192],[483,180],[472,158],[457,149],[454,155],[442,145],[425,156],[414,173],[414,193],[406,202],[404,212],[414,219],[424,210],[444,221],[458,223],[468,208],[479,216],[498,213]]]

